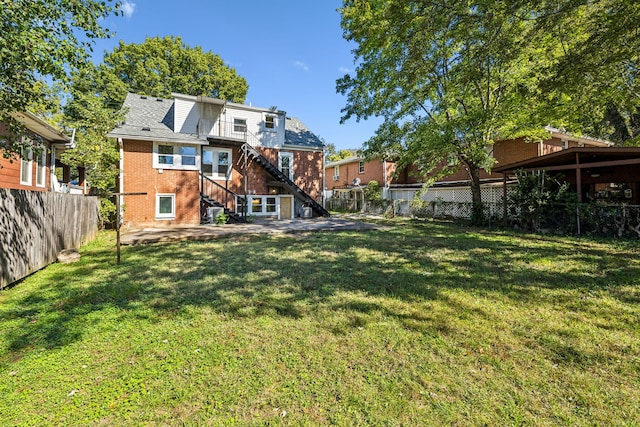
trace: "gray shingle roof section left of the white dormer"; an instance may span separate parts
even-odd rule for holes
[[[122,107],[127,110],[124,123],[116,126],[107,135],[111,138],[206,143],[199,140],[198,135],[173,131],[174,101],[172,99],[129,93]]]

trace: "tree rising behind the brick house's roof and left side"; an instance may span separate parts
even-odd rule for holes
[[[246,80],[212,52],[192,48],[179,37],[120,42],[103,63],[76,72],[65,105],[65,125],[75,128],[76,148],[65,153],[70,164],[87,166],[87,180],[98,194],[115,188],[118,147],[106,134],[122,121],[127,92],[170,97],[172,92],[244,102]],[[108,199],[103,218],[113,212]]]

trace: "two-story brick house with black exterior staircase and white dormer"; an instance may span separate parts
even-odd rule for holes
[[[284,111],[132,93],[123,108],[108,136],[120,146],[125,226],[199,224],[219,211],[235,221],[328,215],[323,143]]]

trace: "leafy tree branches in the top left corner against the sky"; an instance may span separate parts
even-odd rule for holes
[[[110,35],[101,20],[118,13],[116,0],[0,0],[0,120],[11,112],[38,108],[47,96],[44,81],[67,82],[88,60],[95,39]],[[34,107],[35,106],[35,107]],[[0,142],[5,156],[20,147]]]

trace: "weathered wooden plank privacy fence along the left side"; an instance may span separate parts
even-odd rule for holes
[[[98,198],[0,188],[0,289],[98,231]]]

